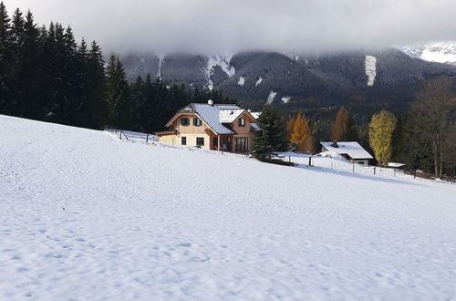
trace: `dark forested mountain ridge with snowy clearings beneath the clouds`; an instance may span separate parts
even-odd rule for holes
[[[456,66],[411,57],[397,48],[320,56],[130,54],[122,61],[130,81],[150,73],[170,84],[222,90],[254,108],[275,104],[287,110],[334,105],[402,110],[425,80],[456,78]]]

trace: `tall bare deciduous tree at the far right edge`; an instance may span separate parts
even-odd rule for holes
[[[424,151],[432,159],[436,177],[442,175],[446,145],[451,137],[456,105],[451,88],[451,78],[427,81],[411,109],[414,136],[424,142]]]

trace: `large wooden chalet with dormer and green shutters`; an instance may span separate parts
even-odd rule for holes
[[[257,115],[257,113],[255,113]],[[207,150],[247,152],[251,148],[256,119],[237,105],[191,103],[156,132],[162,143],[201,147]]]

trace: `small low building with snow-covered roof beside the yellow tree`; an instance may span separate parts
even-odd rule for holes
[[[367,150],[363,149],[358,142],[343,141],[343,142],[320,142],[322,151],[337,153],[348,161],[358,164],[369,165],[374,160]]]

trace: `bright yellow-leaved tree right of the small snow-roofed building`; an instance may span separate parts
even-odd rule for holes
[[[368,126],[369,144],[374,150],[375,158],[382,166],[386,166],[391,159],[393,150],[393,132],[398,119],[393,113],[382,110],[372,116]]]

